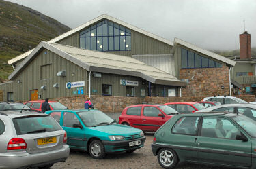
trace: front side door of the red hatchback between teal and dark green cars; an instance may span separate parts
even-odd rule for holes
[[[164,116],[160,117],[162,114],[160,109],[154,106],[143,107],[143,115],[141,116],[142,126],[146,131],[156,131],[165,122]],[[162,114],[163,115],[163,114]]]

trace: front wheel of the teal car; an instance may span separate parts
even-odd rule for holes
[[[106,155],[104,145],[100,140],[93,140],[90,143],[89,153],[94,159],[102,159]]]

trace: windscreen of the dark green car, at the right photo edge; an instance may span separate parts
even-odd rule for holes
[[[249,117],[246,117],[245,115],[240,115],[238,117],[233,117],[233,120],[235,120],[239,126],[244,128],[248,134],[250,134],[253,137],[256,137],[256,121],[253,119],[250,119]]]

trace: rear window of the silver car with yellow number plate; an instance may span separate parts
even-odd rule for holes
[[[55,119],[48,115],[30,115],[12,119],[17,135],[62,130]]]

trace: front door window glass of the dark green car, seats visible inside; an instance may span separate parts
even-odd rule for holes
[[[229,120],[219,117],[203,117],[201,136],[235,140],[237,134],[240,134],[240,130]]]

